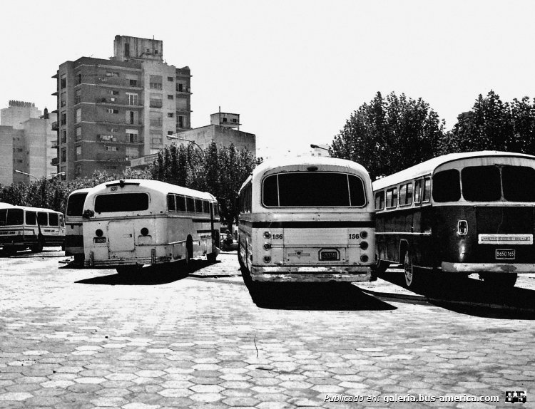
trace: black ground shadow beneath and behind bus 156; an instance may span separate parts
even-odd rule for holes
[[[263,283],[259,291],[248,284],[251,299],[265,309],[289,310],[393,310],[387,304],[360,291],[351,283]]]

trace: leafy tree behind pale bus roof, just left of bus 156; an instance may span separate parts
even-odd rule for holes
[[[172,144],[158,153],[151,177],[210,192],[218,198],[223,221],[230,225],[238,219],[238,190],[256,165],[252,152],[237,150],[233,144],[224,147],[211,143],[202,151],[193,144]]]

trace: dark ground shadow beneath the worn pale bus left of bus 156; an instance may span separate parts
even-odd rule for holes
[[[148,286],[169,284],[188,277],[205,266],[210,265],[206,260],[193,260],[188,266],[180,262],[159,264],[143,267],[132,274],[108,274],[75,281],[76,284],[98,284],[108,286]],[[109,271],[109,270],[108,270]]]

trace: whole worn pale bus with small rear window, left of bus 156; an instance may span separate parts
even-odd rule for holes
[[[218,255],[218,202],[207,192],[157,180],[116,180],[88,192],[83,205],[84,264],[119,273]]]

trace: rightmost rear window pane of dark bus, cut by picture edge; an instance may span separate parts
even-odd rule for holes
[[[501,170],[504,198],[509,202],[535,202],[535,169],[504,166]]]

